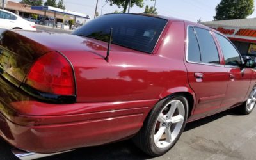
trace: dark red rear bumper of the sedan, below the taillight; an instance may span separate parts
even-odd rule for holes
[[[0,78],[0,136],[29,152],[53,153],[136,134],[157,100],[45,104]]]

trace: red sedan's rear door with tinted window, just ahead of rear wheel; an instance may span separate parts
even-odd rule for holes
[[[228,85],[228,72],[221,65],[218,47],[208,29],[188,27],[186,68],[189,85],[196,94],[195,117],[210,115],[220,108]]]

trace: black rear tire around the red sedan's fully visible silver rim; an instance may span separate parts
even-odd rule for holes
[[[159,122],[159,117],[160,117],[161,113],[167,112],[166,115],[168,115],[170,113],[170,109],[168,111],[166,111],[164,109],[172,108],[172,106],[175,106],[175,105],[170,104],[172,102],[177,102],[177,106],[178,106],[178,102],[181,102],[183,104],[184,119],[183,119],[183,122],[177,122],[177,124],[174,124],[174,123],[172,124],[172,122],[170,122],[170,124],[168,124],[168,125],[170,125],[170,127],[169,127],[170,131],[168,130],[169,135],[171,135],[170,133],[173,133],[172,126],[174,126],[173,131],[175,131],[175,132],[177,132],[175,130],[175,128],[179,127],[178,134],[174,138],[174,140],[172,140],[172,136],[170,136],[170,139],[169,139],[169,140],[171,140],[170,145],[163,147],[163,148],[159,148],[159,147],[157,147],[157,144],[161,144],[162,141],[158,140],[157,143],[154,141],[154,136],[156,136],[158,131],[160,131],[160,127],[163,128],[163,126],[164,126],[164,122]],[[182,109],[180,109],[181,108],[180,106],[182,106],[182,105],[179,104],[179,107],[177,107],[175,109],[175,111],[173,110],[174,111],[173,115],[175,115],[177,113],[180,115],[179,110],[182,110]],[[166,116],[166,115],[164,115],[164,116]],[[156,106],[152,109],[152,111],[150,111],[150,113],[148,114],[148,116],[143,124],[143,127],[140,129],[138,134],[136,134],[136,136],[134,136],[134,138],[132,138],[132,141],[135,143],[135,145],[138,148],[143,150],[143,152],[145,152],[146,154],[148,154],[150,156],[154,156],[154,157],[161,156],[161,155],[165,154],[166,152],[168,152],[168,150],[170,150],[175,145],[177,140],[179,140],[182,132],[184,131],[187,118],[188,118],[188,100],[185,97],[183,97],[181,95],[175,95],[175,96],[163,99],[156,104]],[[168,119],[168,116],[166,117],[166,120],[167,119]],[[157,123],[159,124],[159,130],[155,134],[156,128],[157,128]],[[178,125],[178,123],[179,123],[179,125]],[[167,129],[167,127],[166,127],[166,129]],[[165,137],[166,141],[168,141],[168,139],[166,138],[166,137],[168,137],[168,134],[166,134],[166,131],[167,130],[164,131],[163,135],[165,135],[164,137]],[[163,135],[161,137],[163,137]],[[162,138],[160,138],[160,139],[162,140]],[[164,141],[164,143],[166,143],[166,142]]]

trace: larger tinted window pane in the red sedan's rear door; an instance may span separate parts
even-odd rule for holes
[[[220,64],[218,50],[210,31],[196,27],[194,29],[200,46],[202,62]]]

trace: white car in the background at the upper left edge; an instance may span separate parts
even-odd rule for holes
[[[8,12],[0,9],[0,28],[4,29],[24,29],[29,31],[36,31],[36,25],[34,22],[29,22],[22,19],[15,13]]]

